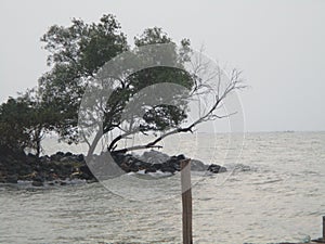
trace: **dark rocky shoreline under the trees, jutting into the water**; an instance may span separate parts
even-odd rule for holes
[[[141,156],[133,154],[112,154],[116,164],[126,172],[145,174],[162,171],[176,174],[180,171],[180,162],[184,155],[169,156],[167,154],[150,151]],[[210,171],[212,174],[224,172],[226,169],[219,165],[205,165],[197,159],[191,160],[191,169],[194,171]],[[0,183],[17,183],[30,181],[34,187],[47,184],[67,184],[72,180],[94,182],[82,154],[57,152],[53,155],[36,157],[32,154],[0,155]]]

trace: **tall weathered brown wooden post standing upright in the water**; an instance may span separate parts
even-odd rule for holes
[[[181,182],[183,205],[183,244],[193,244],[191,159],[181,160]]]

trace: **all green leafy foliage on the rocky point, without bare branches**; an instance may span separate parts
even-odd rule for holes
[[[99,23],[87,24],[74,18],[68,27],[53,25],[41,41],[49,51],[50,70],[40,77],[37,90],[28,90],[0,105],[0,153],[22,153],[28,149],[39,156],[41,140],[49,131],[57,132],[61,140],[68,143],[78,143],[78,113],[87,87],[106,62],[125,51],[136,53],[133,62],[139,64],[155,59],[180,68],[145,68],[114,80],[109,100],[99,108],[103,113],[104,133],[120,128],[123,108],[142,89],[160,82],[178,84],[188,89],[194,86],[193,77],[182,69],[190,60],[190,40],[183,39],[179,50],[161,28],[145,29],[134,38],[134,48],[131,49],[120,24],[108,14],[103,15]],[[162,54],[151,48],[151,44],[162,43],[171,43]],[[143,46],[147,47],[147,52],[139,53]],[[161,99],[156,98],[157,101]],[[180,102],[178,106],[143,106],[144,115],[136,124],[139,131],[145,133],[178,127],[186,119],[186,105]]]

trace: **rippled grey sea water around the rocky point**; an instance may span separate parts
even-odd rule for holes
[[[48,140],[46,152],[58,146]],[[182,134],[168,140],[164,152],[230,169],[192,172],[194,243],[321,236],[325,132],[247,133],[245,140]],[[1,185],[0,243],[181,243],[180,188],[179,175],[52,188]]]

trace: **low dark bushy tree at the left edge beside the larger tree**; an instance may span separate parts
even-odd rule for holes
[[[41,140],[53,129],[53,113],[38,99],[36,89],[0,105],[0,144],[4,154],[34,150],[41,153]]]

